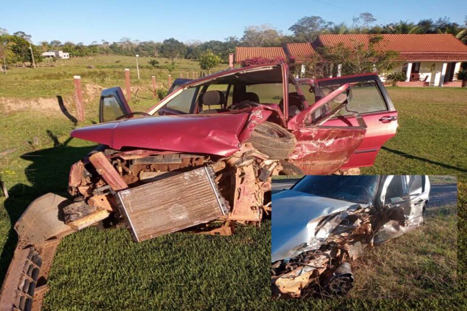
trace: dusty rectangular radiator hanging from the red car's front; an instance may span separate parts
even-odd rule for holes
[[[207,223],[228,213],[210,167],[117,192],[137,242]]]

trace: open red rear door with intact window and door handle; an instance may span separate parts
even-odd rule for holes
[[[358,112],[367,125],[366,134],[349,161],[342,166],[342,169],[371,166],[381,146],[395,136],[397,111],[376,73],[315,80],[316,101],[346,83],[353,84],[351,98],[347,103],[348,110],[341,110],[340,113],[327,120],[323,125],[356,126],[359,122],[350,111]],[[314,118],[323,118],[332,109],[333,104],[323,106],[321,111],[315,114]]]

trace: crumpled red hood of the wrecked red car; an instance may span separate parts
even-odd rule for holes
[[[238,150],[249,112],[131,118],[78,128],[71,136],[108,145],[227,156]]]

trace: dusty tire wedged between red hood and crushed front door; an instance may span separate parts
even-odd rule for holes
[[[284,160],[292,153],[297,139],[279,124],[265,121],[257,125],[248,140],[259,152],[272,160]]]

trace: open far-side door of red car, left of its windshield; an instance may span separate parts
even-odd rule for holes
[[[131,114],[120,87],[105,88],[99,101],[99,122],[115,121],[118,117]]]

